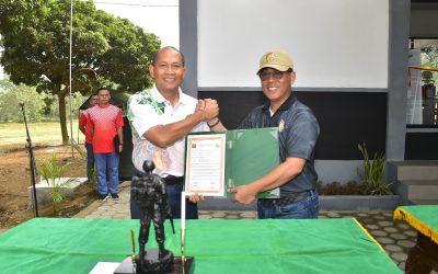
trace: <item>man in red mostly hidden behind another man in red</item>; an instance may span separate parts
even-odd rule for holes
[[[99,96],[97,94],[91,95],[89,100],[90,107],[99,104]],[[79,130],[85,135],[85,149],[87,149],[87,178],[89,179],[89,182],[91,182],[91,176],[92,176],[92,169],[94,168],[94,153],[93,153],[93,137],[91,136],[91,126],[90,126],[90,119],[89,119],[89,114],[87,113],[88,110],[83,111],[81,113],[81,116],[79,117]]]

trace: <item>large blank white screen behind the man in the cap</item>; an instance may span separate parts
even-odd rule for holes
[[[290,54],[295,87],[388,88],[388,0],[198,0],[198,87],[260,87]]]

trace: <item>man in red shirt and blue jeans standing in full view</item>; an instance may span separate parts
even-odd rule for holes
[[[118,199],[118,153],[123,150],[123,117],[120,110],[110,104],[111,94],[105,88],[97,91],[99,105],[89,109],[93,152],[97,171],[99,199]],[[115,147],[114,138],[119,145]],[[110,176],[106,185],[106,169]]]

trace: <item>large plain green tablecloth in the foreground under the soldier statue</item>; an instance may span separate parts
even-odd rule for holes
[[[35,218],[0,235],[0,273],[89,273],[99,261],[122,262],[138,227]],[[178,229],[165,229],[166,248],[180,255]],[[188,220],[186,233],[195,273],[401,273],[355,219]]]

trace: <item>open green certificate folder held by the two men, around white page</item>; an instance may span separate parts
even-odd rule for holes
[[[249,184],[270,172],[279,164],[278,128],[253,128],[235,129],[224,133],[193,133],[197,136],[224,135],[224,172],[223,190]],[[188,139],[188,138],[187,138]],[[187,140],[186,140],[186,164],[187,174]],[[217,173],[216,171],[211,171]],[[187,186],[186,176],[186,186]],[[187,189],[187,187],[186,187]],[[228,194],[231,197],[233,194]],[[260,193],[258,198],[277,198],[279,189]]]

